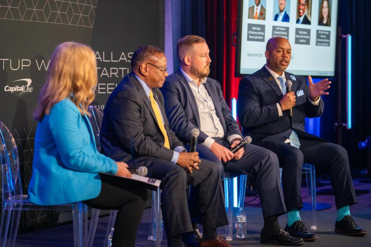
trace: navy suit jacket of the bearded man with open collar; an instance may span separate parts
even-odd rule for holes
[[[216,115],[220,119],[221,126],[223,126],[224,137],[227,138],[233,134],[242,136],[240,128],[233,119],[232,113],[223,98],[219,82],[207,77],[204,86],[213,100]],[[182,142],[189,143],[191,141],[191,130],[193,128],[200,130],[201,124],[196,99],[187,79],[178,70],[166,78],[160,90],[166,99],[165,110],[170,128]],[[208,135],[200,130],[197,141],[204,142],[207,137]]]

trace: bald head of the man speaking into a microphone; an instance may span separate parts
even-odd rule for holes
[[[272,37],[266,45],[267,67],[279,75],[286,70],[291,60],[291,45],[283,37]]]

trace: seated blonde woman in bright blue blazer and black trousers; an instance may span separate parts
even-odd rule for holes
[[[91,48],[58,45],[34,114],[39,123],[29,200],[41,205],[84,201],[98,209],[117,209],[113,246],[133,247],[148,193],[118,177],[131,177],[126,163],[96,151],[87,108],[97,81]]]

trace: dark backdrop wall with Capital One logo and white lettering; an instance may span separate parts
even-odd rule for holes
[[[16,139],[24,193],[37,125],[32,113],[55,47],[76,41],[96,51],[99,81],[93,104],[102,109],[116,84],[131,72],[131,55],[139,45],[164,48],[163,13],[163,0],[0,1],[0,120]],[[27,89],[6,91],[16,86]],[[24,212],[20,232],[53,226],[58,216]]]

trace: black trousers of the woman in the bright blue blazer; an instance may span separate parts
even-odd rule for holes
[[[101,193],[84,203],[96,209],[118,210],[113,247],[134,247],[139,223],[148,197],[147,189],[133,185],[130,180],[100,174]]]

